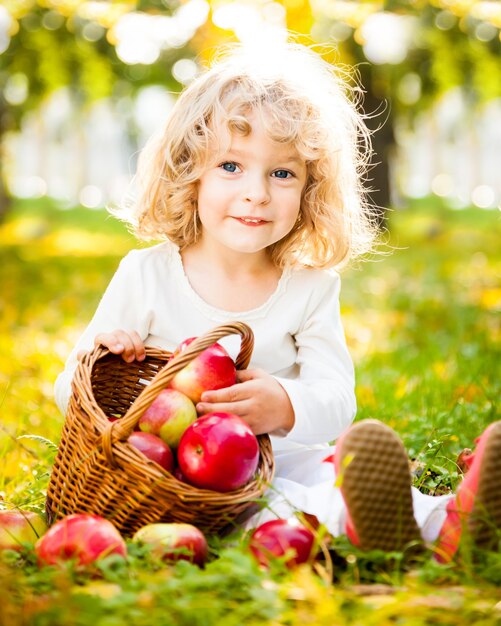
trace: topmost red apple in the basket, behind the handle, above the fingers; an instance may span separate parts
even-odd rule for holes
[[[186,350],[196,337],[183,341],[172,354],[174,359]],[[172,389],[186,394],[196,404],[202,393],[211,389],[222,389],[234,385],[237,380],[235,363],[222,345],[215,343],[199,354],[178,372],[170,382]]]

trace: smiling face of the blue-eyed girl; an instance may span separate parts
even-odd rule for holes
[[[203,242],[262,254],[296,223],[307,170],[293,147],[267,136],[258,116],[248,119],[251,132],[233,133],[229,150],[201,176],[198,213]]]

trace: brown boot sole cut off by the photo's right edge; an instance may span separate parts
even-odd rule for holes
[[[478,490],[468,520],[475,545],[492,547],[501,528],[501,422],[492,427],[479,472]]]

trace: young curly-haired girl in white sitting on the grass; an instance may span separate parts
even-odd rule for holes
[[[235,413],[255,434],[271,437],[276,478],[269,506],[247,527],[302,511],[333,535],[348,525],[360,543],[352,528],[359,516],[345,506],[354,490],[350,472],[359,465],[347,462],[351,430],[336,455],[338,478],[346,469],[344,493],[334,485],[334,464],[324,462],[334,450],[329,442],[355,416],[333,268],[369,251],[375,235],[363,188],[370,141],[350,91],[356,94],[339,71],[295,44],[258,58],[235,48],[190,84],[142,152],[138,197],[126,216],[138,237],[163,241],[121,261],[55,393],[65,412],[78,357],[96,344],[131,362],[144,359],[145,345],[172,351],[219,324],[246,322],[255,336],[249,369],[236,385],[205,393],[197,409]],[[237,338],[225,345],[236,356]],[[381,492],[396,498],[384,519],[393,527],[405,521],[405,540],[416,538],[418,527],[434,540],[450,498],[416,489],[411,495],[403,448],[396,454],[393,434],[380,426],[383,465],[385,454],[389,460],[382,480],[397,465],[404,475]],[[355,431],[369,451],[374,428]],[[365,481],[364,467],[371,466],[357,469],[355,483]],[[364,517],[370,494],[362,495]],[[371,538],[367,547],[379,541]]]

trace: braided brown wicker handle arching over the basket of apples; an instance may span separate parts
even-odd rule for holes
[[[241,336],[242,340],[240,352],[235,360],[235,366],[239,370],[245,369],[249,365],[252,349],[254,347],[254,334],[252,329],[243,322],[232,322],[230,324],[217,326],[200,337],[197,337],[185,350],[164,365],[152,379],[151,383],[141,391],[127,413],[121,419],[106,425],[102,434],[102,445],[103,452],[110,464],[114,465],[113,443],[118,440],[127,439],[141,415],[153,403],[160,391],[169,384],[174,376],[186,367],[188,363],[191,363],[199,354],[214,345],[220,339],[227,335],[237,334]]]

